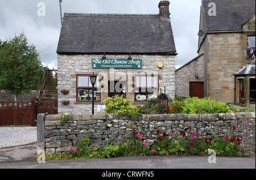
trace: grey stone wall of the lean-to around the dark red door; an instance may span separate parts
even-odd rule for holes
[[[189,82],[204,82],[204,54],[192,59],[175,71],[175,93],[189,96]],[[198,78],[195,75],[198,74]]]

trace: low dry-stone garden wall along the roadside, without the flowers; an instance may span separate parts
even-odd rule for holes
[[[200,136],[214,138],[217,134],[233,132],[241,139],[241,151],[255,152],[255,112],[232,114],[158,114],[120,117],[118,114],[69,114],[63,126],[62,114],[39,114],[38,150],[46,154],[69,151],[69,143],[76,144],[77,138],[89,135],[90,144],[104,145],[114,136],[113,143],[123,143],[129,139],[133,130],[141,132],[143,140],[152,145],[156,139],[156,130],[165,131],[168,137],[176,136],[184,130],[187,135],[199,132]],[[191,126],[191,132],[188,132]]]

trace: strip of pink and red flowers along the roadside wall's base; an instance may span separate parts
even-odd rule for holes
[[[189,126],[191,132],[191,126]],[[175,132],[171,137],[167,137],[166,132],[160,134],[156,130],[157,138],[155,142],[149,146],[149,140],[143,140],[141,132],[133,130],[133,134],[125,143],[113,144],[113,138],[108,144],[100,147],[91,146],[88,135],[84,135],[82,140],[77,141],[77,145],[69,144],[70,150],[65,151],[62,155],[52,155],[51,158],[112,158],[118,156],[156,156],[156,155],[208,155],[215,151],[217,156],[241,156],[240,137],[236,136],[236,126],[233,126],[233,133],[223,136],[217,135],[216,138],[208,139],[200,136],[200,133],[188,136],[186,130],[183,134],[176,136]]]

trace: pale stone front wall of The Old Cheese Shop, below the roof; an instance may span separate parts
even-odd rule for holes
[[[102,54],[103,55],[103,54]],[[104,75],[104,88],[101,88],[101,102],[94,103],[94,109],[97,110],[98,104],[104,104],[105,98],[109,96],[108,80],[123,80],[125,76],[126,97],[134,102],[134,88],[129,85],[129,77],[134,75],[158,75],[159,77],[159,93],[160,88],[166,86],[166,94],[170,98],[175,95],[175,55],[133,55],[134,59],[142,59],[142,68],[92,68],[92,58],[101,58],[102,55],[63,55],[58,54],[58,98],[59,98],[59,113],[77,113],[88,114],[92,111],[92,102],[76,102],[76,75],[94,74]],[[123,55],[108,55],[107,58],[127,58],[129,54]],[[158,62],[163,62],[163,68],[158,68]],[[131,79],[130,79],[131,80]],[[131,80],[132,82],[132,80]],[[67,95],[61,93],[61,89],[70,90]],[[158,94],[159,94],[158,93]],[[69,100],[69,105],[63,105],[61,101]],[[97,113],[97,112],[95,112]]]

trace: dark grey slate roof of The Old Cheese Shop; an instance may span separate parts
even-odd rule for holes
[[[170,20],[160,15],[65,13],[59,54],[176,53]]]

